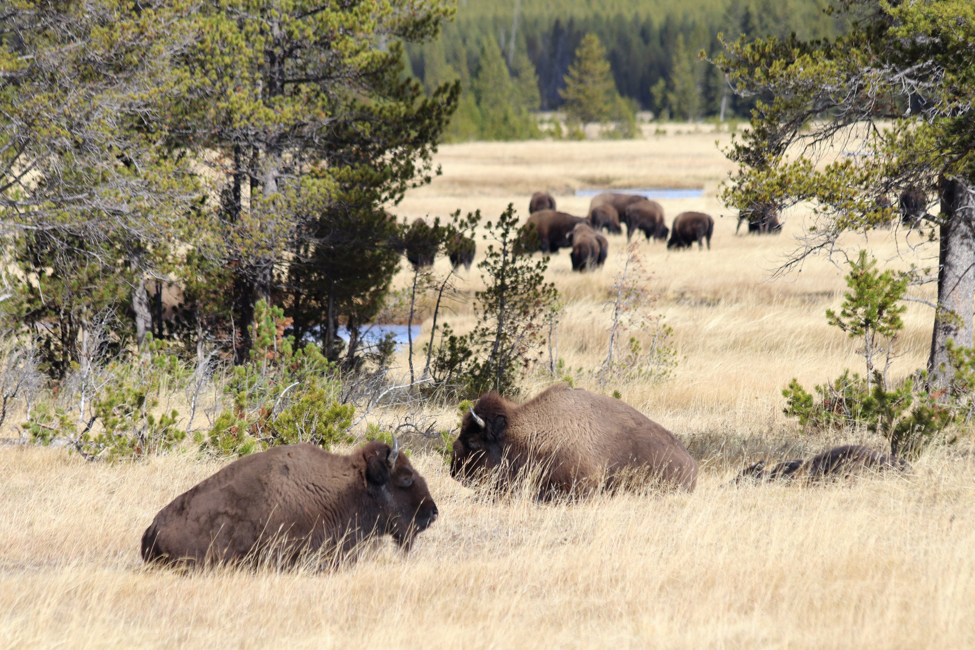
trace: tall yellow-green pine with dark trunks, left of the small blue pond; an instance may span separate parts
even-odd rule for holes
[[[201,37],[179,60],[186,100],[175,118],[181,143],[211,168],[212,191],[223,199],[239,361],[249,358],[254,304],[269,303],[273,290],[292,305],[329,305],[317,316],[328,314],[331,350],[339,308],[332,289],[383,286],[336,277],[331,262],[308,265],[330,261],[329,251],[339,251],[337,266],[353,274],[392,272],[377,206],[429,181],[433,148],[459,94],[446,84],[426,97],[404,62],[403,39],[436,36],[450,10],[435,1],[402,11],[404,2],[230,0],[205,5],[194,19]],[[384,246],[385,255],[376,252]],[[365,256],[358,264],[347,259],[356,252]],[[282,286],[289,255],[296,256],[289,274],[300,272],[302,282]],[[313,278],[321,282],[311,289]],[[296,297],[297,286],[316,295]]]

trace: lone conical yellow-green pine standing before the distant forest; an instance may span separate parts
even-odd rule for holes
[[[559,91],[570,120],[585,124],[612,117],[618,94],[605,56],[599,36],[586,34],[565,74],[565,89]]]

